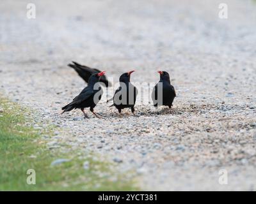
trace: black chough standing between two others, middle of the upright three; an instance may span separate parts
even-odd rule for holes
[[[134,105],[138,94],[138,90],[130,82],[132,72],[134,71],[129,71],[120,76],[120,87],[116,89],[113,98],[108,100],[113,100],[113,105],[111,106],[115,106],[118,109],[119,113],[121,113],[122,109],[124,108],[131,108],[131,111],[134,114]]]

